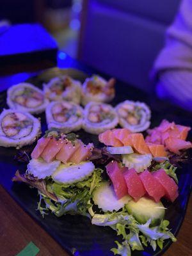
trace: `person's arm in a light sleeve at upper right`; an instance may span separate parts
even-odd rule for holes
[[[154,63],[156,92],[192,111],[192,1],[184,0]]]

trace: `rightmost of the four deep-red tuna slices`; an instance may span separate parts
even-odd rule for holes
[[[178,193],[178,186],[175,181],[164,172],[163,169],[159,169],[156,172],[152,173],[156,180],[158,180],[164,188],[165,196],[170,201],[175,201]]]

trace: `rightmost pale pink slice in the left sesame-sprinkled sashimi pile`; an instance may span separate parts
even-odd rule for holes
[[[68,160],[71,163],[79,164],[81,161],[86,161],[92,156],[89,146],[84,145],[82,141],[79,144],[80,147],[77,148],[76,152],[72,154],[72,157]]]

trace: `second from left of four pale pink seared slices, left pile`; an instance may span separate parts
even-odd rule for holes
[[[45,162],[50,163],[56,154],[58,154],[61,147],[63,147],[63,143],[62,139],[56,140],[55,138],[51,138],[40,157],[42,157]]]

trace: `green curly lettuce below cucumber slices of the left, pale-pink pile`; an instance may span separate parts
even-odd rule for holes
[[[100,168],[97,168],[87,180],[70,185],[54,182],[51,178],[45,179],[46,189],[49,192],[47,195],[50,193],[51,195],[54,194],[57,200],[52,200],[49,196],[41,193],[42,198],[38,204],[38,209],[44,214],[45,210],[42,207],[42,203],[44,202],[45,209],[50,209],[58,217],[66,213],[90,216],[88,211],[92,207],[90,203],[92,193],[95,188],[100,186],[102,172]]]

